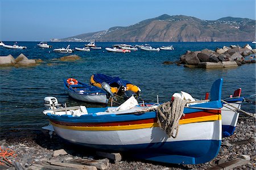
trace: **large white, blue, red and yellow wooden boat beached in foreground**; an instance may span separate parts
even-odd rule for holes
[[[175,110],[174,116],[180,116],[172,131],[175,136],[158,123],[160,107],[140,107],[134,96],[126,101],[133,104],[129,108],[123,104],[106,108],[53,105],[43,113],[57,135],[78,145],[129,152],[156,162],[200,164],[212,160],[220,150],[222,81],[213,83],[210,101]]]

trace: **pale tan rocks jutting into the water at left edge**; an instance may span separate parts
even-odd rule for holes
[[[24,54],[19,54],[17,58],[14,59],[11,54],[8,56],[0,56],[0,66],[35,66],[39,63],[40,59],[28,59]]]

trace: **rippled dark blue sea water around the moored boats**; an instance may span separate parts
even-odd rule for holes
[[[97,42],[102,50],[75,52],[81,60],[60,62],[52,60],[69,54],[54,53],[53,49],[82,47],[86,42],[49,42],[52,49],[40,49],[38,42],[18,42],[27,49],[5,49],[0,46],[1,56],[11,54],[14,58],[23,53],[28,59],[43,59],[36,67],[1,67],[0,68],[0,118],[1,134],[13,130],[36,130],[48,124],[42,111],[45,109],[45,96],[55,96],[59,103],[68,106],[85,105],[86,107],[104,107],[86,104],[68,97],[64,92],[63,78],[73,77],[89,83],[90,76],[104,73],[129,80],[142,90],[143,99],[156,102],[170,100],[172,94],[179,91],[189,92],[193,97],[202,99],[210,90],[214,80],[224,78],[222,97],[225,98],[237,88],[242,88],[242,96],[255,94],[255,64],[242,65],[233,69],[188,69],[183,66],[163,65],[164,61],[177,61],[187,50],[215,50],[222,46],[250,44],[250,42],[149,42],[151,46],[174,45],[175,50],[160,52],[137,51],[131,53],[109,53],[105,47],[118,42]],[[13,42],[5,42],[12,45]],[[127,43],[135,45],[135,43]],[[142,43],[137,43],[141,45]],[[255,44],[250,44],[255,48]],[[51,64],[49,64],[51,63]],[[255,100],[253,98],[253,100]],[[242,109],[255,113],[255,105],[243,104]]]

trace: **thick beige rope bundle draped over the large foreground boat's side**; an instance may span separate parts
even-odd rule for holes
[[[177,137],[179,131],[179,120],[184,115],[183,110],[186,101],[175,97],[174,101],[161,104],[156,111],[158,124],[166,132],[168,137]],[[175,134],[174,134],[175,133]]]

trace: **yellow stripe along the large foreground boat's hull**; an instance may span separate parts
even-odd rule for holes
[[[221,120],[221,114],[213,115],[213,116],[204,116],[204,117],[196,117],[196,118],[188,118],[180,120],[179,124],[191,124],[196,122],[206,122],[206,121],[217,121]],[[148,123],[148,124],[137,124],[137,125],[122,125],[122,126],[65,126],[55,124],[51,121],[53,126],[57,126],[63,129],[71,129],[71,130],[90,130],[90,131],[112,131],[112,130],[133,130],[133,129],[144,129],[144,128],[153,128],[159,127],[158,123]]]

